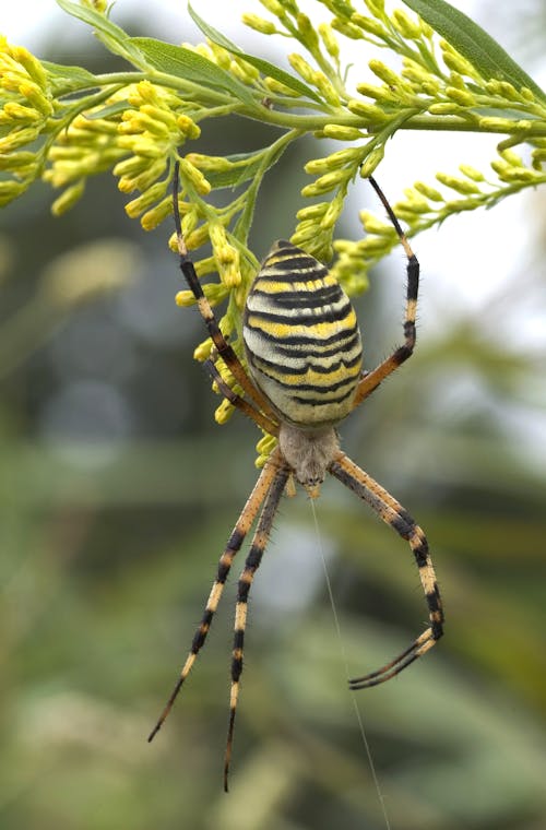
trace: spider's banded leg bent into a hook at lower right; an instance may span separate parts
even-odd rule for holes
[[[443,633],[443,610],[426,536],[410,513],[381,485],[365,473],[364,470],[360,470],[343,452],[340,452],[335,456],[329,466],[329,472],[359,498],[367,501],[383,522],[390,524],[402,538],[405,538],[410,543],[419,570],[420,583],[427,601],[430,619],[430,627],[408,649],[399,654],[397,657],[376,672],[370,672],[363,677],[355,677],[349,680],[351,688],[356,690],[377,686],[380,683],[389,680],[406,668],[414,660],[426,654]]]

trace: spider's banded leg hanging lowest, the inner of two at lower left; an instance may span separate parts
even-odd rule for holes
[[[239,697],[239,683],[242,672],[242,652],[245,643],[245,629],[247,625],[248,594],[254,573],[260,567],[263,552],[270,537],[273,519],[278,508],[278,502],[288,481],[290,470],[286,464],[278,466],[273,478],[266,499],[264,501],[260,520],[256,529],[252,546],[245,562],[245,568],[239,577],[237,591],[237,605],[235,607],[235,632],[234,650],[232,660],[232,691],[229,696],[229,726],[227,730],[226,755],[224,759],[224,790],[227,793],[227,779],[229,762],[232,760],[232,747],[234,739],[235,715]]]

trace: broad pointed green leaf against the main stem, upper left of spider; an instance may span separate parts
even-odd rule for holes
[[[191,49],[165,44],[153,37],[131,37],[130,44],[139,49],[149,66],[159,72],[183,78],[185,81],[201,86],[229,92],[244,104],[256,106],[256,100],[245,84]]]

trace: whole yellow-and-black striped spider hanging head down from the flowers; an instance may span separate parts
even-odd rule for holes
[[[244,315],[242,337],[248,372],[222,334],[182,237],[178,208],[179,171],[175,166],[174,216],[180,269],[222,358],[242,389],[237,394],[221,378],[214,358],[207,370],[222,394],[270,435],[277,446],[270,455],[242,508],[221,556],[203,617],[176,686],[156,725],[162,727],[209,633],[235,555],[261,508],[250,552],[239,577],[235,610],[229,723],[224,759],[227,792],[235,715],[242,672],[247,602],[271,533],[273,519],[287,485],[296,479],[310,498],[319,495],[327,473],[355,493],[389,524],[410,547],[428,608],[429,627],[410,648],[376,672],[351,679],[352,690],[389,680],[425,654],[442,636],[443,613],[428,544],[423,530],[407,511],[340,449],[336,425],[413,354],[419,284],[419,263],[383,192],[369,181],[382,202],[407,257],[404,343],[371,371],[363,371],[360,332],[351,301],[328,269],[287,241],[276,241],[250,287]]]

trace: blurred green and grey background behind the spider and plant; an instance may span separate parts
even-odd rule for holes
[[[90,40],[84,59],[52,40],[39,54],[104,71]],[[200,150],[269,140],[232,123]],[[290,233],[313,152],[270,177],[259,256]],[[345,663],[376,668],[425,625],[413,558],[335,482],[317,505],[320,541],[304,494],[285,499],[251,594],[228,796],[235,578],[174,712],[146,736],[256,479],[258,432],[239,416],[214,426],[218,401],[191,358],[202,327],[174,304],[169,229],[144,236],[106,176],[61,220],[50,200],[36,187],[0,230],[1,827],[379,830],[355,701],[393,828],[546,827],[544,193],[521,199],[510,233],[476,236],[479,214],[440,229],[446,260],[476,285],[472,246],[483,256],[525,234],[486,301],[442,283],[419,238],[416,355],[342,429],[427,532],[446,638],[352,699]],[[342,235],[357,233],[351,220]],[[368,366],[400,340],[403,269],[396,253],[357,301]],[[109,281],[121,287],[102,290]]]

